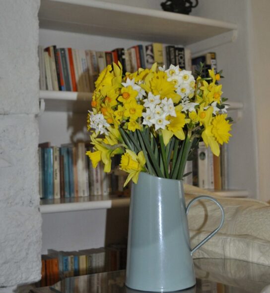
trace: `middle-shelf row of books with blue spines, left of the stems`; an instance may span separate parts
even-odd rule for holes
[[[84,142],[61,147],[49,142],[39,145],[39,190],[46,199],[89,195],[123,195],[126,174],[104,173],[103,164],[93,168],[85,155],[91,147]],[[119,165],[119,156],[112,158],[112,168]]]

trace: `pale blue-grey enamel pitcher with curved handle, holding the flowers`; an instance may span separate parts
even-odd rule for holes
[[[195,248],[191,248],[187,213],[199,199],[214,201],[221,222]],[[213,197],[202,195],[185,204],[183,181],[140,173],[132,185],[126,286],[150,292],[179,291],[196,284],[192,254],[224,222],[224,210]]]

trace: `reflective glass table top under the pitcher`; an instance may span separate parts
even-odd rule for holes
[[[179,293],[270,293],[270,267],[233,259],[195,259],[196,286]],[[139,293],[125,286],[125,271],[78,276],[33,293]]]

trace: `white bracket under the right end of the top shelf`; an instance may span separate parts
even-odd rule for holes
[[[192,56],[197,57],[211,51],[214,47],[219,47],[224,44],[235,42],[237,40],[237,36],[237,29],[233,29],[212,38],[191,44],[188,47],[191,49]]]

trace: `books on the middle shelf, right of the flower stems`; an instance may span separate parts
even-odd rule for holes
[[[228,154],[227,145],[223,144],[220,155],[213,155],[210,147],[199,142],[197,155],[193,161],[188,161],[184,177],[186,184],[210,190],[225,190],[228,188]]]

